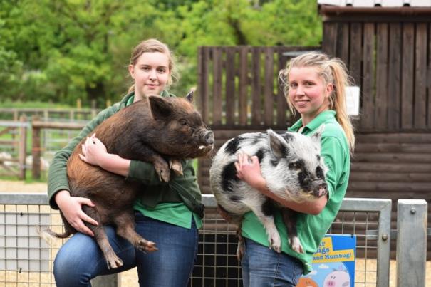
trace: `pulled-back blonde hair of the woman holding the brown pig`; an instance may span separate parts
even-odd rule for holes
[[[172,53],[167,45],[158,41],[157,39],[147,39],[137,44],[137,46],[133,48],[132,54],[130,55],[129,64],[135,66],[137,60],[140,56],[142,56],[143,53],[155,52],[160,52],[167,56],[169,61],[168,68],[170,71],[170,78],[167,80],[167,85],[172,85],[173,80],[177,80],[177,71],[175,69],[174,57],[172,56]],[[135,90],[135,84],[130,86],[128,93],[132,92],[133,90]]]

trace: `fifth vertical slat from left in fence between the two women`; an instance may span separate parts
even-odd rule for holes
[[[251,124],[261,124],[261,54],[259,47],[251,48]]]

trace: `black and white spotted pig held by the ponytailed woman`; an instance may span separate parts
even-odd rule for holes
[[[316,199],[328,193],[326,166],[320,155],[323,128],[311,137],[298,132],[277,134],[273,130],[245,133],[224,143],[213,159],[210,183],[219,207],[238,226],[242,216],[253,211],[266,229],[271,248],[277,252],[281,252],[281,239],[274,224],[275,202],[237,177],[237,153],[242,151],[259,158],[267,187],[279,197],[295,202]],[[296,213],[281,207],[281,214],[292,249],[303,253],[296,231]]]

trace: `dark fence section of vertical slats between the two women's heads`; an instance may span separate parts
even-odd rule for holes
[[[285,128],[289,113],[278,75],[291,56],[320,47],[199,47],[199,110],[214,129]]]

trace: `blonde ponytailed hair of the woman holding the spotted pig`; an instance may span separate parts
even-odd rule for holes
[[[346,89],[352,85],[346,64],[339,58],[329,58],[328,55],[318,52],[303,53],[300,56],[292,58],[287,63],[286,68],[280,71],[279,79],[284,90],[289,109],[295,113],[294,105],[289,100],[289,72],[294,67],[313,67],[316,68],[318,75],[323,79],[325,85],[331,84],[333,90],[329,97],[329,109],[336,111],[336,120],[346,133],[350,151],[355,149],[355,133],[353,125],[347,114],[346,109]]]

